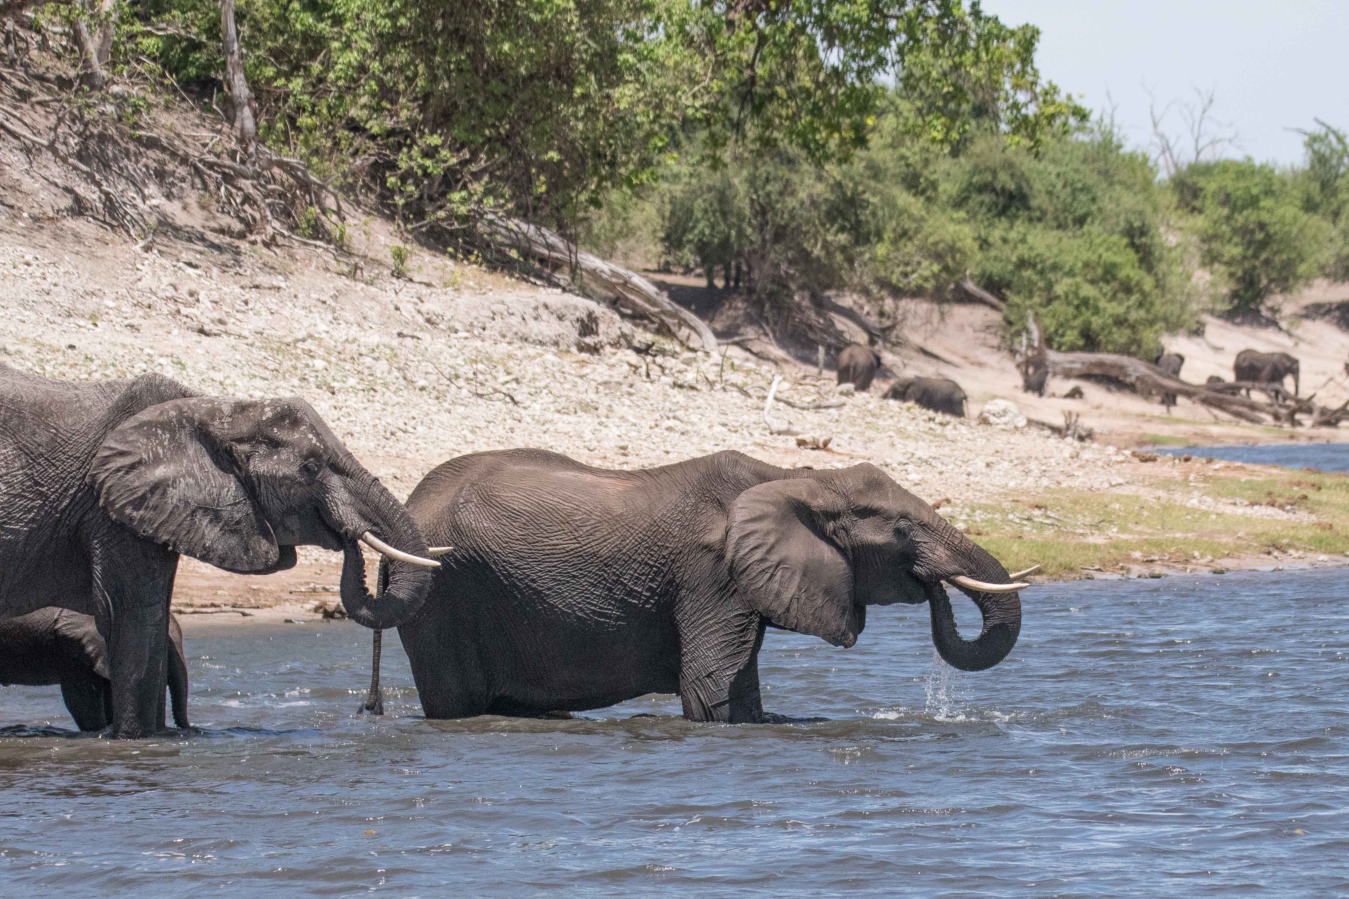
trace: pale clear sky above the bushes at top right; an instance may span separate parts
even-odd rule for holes
[[[1232,124],[1229,156],[1302,160],[1302,135],[1319,117],[1349,128],[1349,0],[983,0],[1005,24],[1039,26],[1040,74],[1091,109],[1116,102],[1137,146],[1151,140],[1147,82],[1160,109],[1214,89]],[[1179,116],[1170,117],[1182,132]]]

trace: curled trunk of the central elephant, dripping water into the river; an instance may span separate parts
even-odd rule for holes
[[[943,543],[948,546],[950,570],[942,580],[963,576],[987,584],[1008,584],[1008,571],[996,558],[989,555],[967,536],[955,528],[947,528]],[[1021,597],[1016,592],[985,593],[959,586],[960,592],[974,600],[983,616],[983,628],[973,640],[960,638],[951,611],[951,600],[940,581],[928,586],[928,611],[932,615],[932,644],[951,667],[962,671],[982,671],[990,669],[1012,651],[1021,633]]]

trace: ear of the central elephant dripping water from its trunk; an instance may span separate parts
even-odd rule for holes
[[[769,481],[731,505],[726,554],[737,592],[773,624],[853,646],[865,611],[853,566],[826,536],[843,500],[815,481]]]

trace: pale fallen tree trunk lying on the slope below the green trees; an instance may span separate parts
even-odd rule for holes
[[[554,232],[519,221],[488,216],[480,224],[486,236],[503,241],[522,255],[544,259],[558,266],[575,266],[581,274],[612,291],[630,311],[665,329],[680,342],[695,345],[695,338],[706,350],[715,350],[716,336],[701,318],[688,311],[665,291],[637,272],[607,263],[599,256],[579,249]]]

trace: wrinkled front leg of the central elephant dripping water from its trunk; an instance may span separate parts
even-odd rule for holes
[[[701,615],[699,615],[701,612]],[[688,620],[680,620],[687,617]],[[680,631],[679,693],[689,721],[747,724],[764,720],[758,651],[764,619],[751,609],[716,609],[696,604],[676,613]]]

